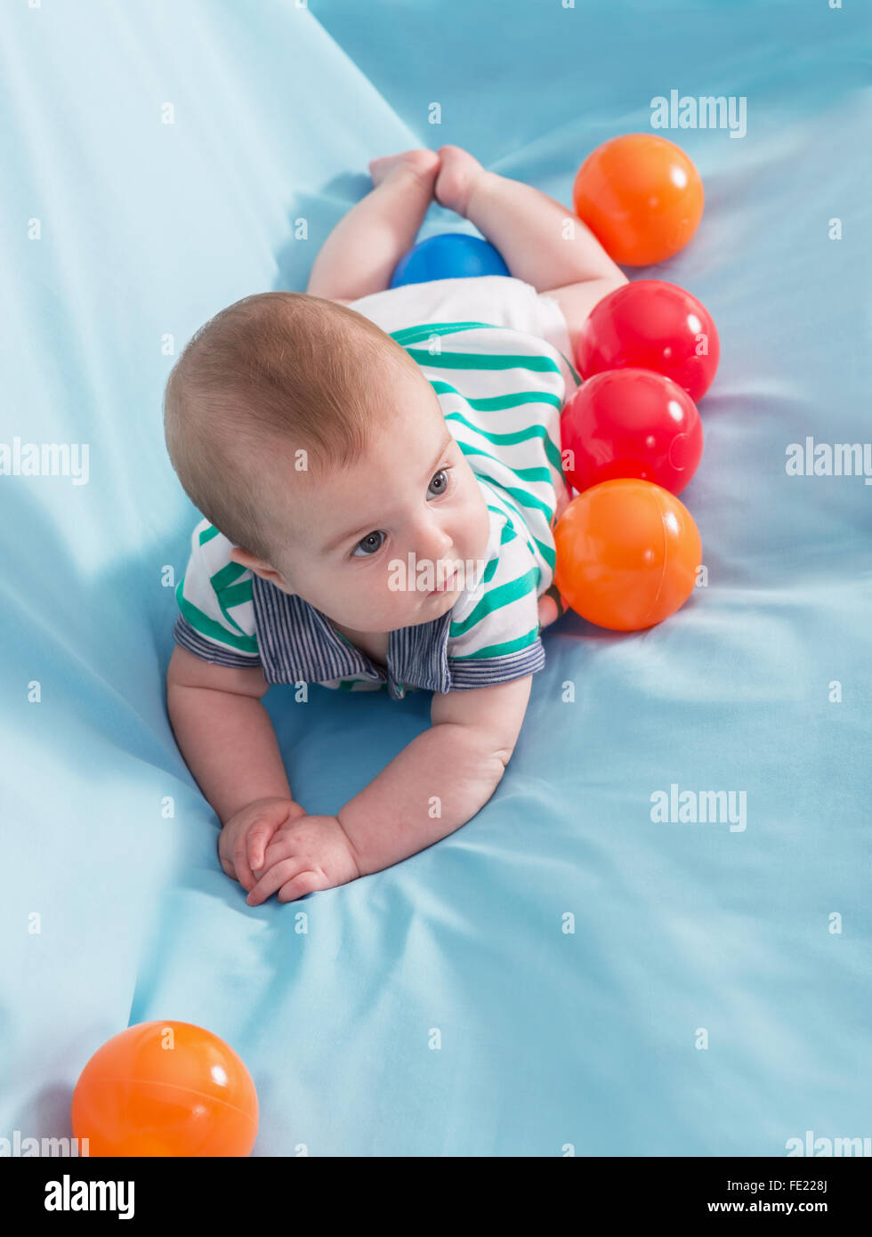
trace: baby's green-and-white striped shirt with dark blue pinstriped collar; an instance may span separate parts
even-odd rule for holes
[[[580,381],[560,307],[495,275],[392,288],[351,308],[409,353],[439,398],[487,505],[484,573],[444,615],[392,631],[382,667],[303,597],[234,563],[233,544],[203,520],[176,590],[176,642],[220,666],[260,666],[267,683],[386,689],[392,699],[542,669],[538,599],[553,581],[558,500],[571,495],[560,409]]]

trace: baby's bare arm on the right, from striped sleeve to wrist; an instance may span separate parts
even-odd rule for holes
[[[336,814],[361,876],[432,846],[487,803],[515,750],[532,678],[433,694],[430,729]]]

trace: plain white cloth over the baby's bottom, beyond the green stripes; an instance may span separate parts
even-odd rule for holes
[[[388,334],[427,322],[489,323],[544,339],[565,356],[571,353],[569,328],[558,302],[513,276],[407,283],[360,297],[350,308]]]

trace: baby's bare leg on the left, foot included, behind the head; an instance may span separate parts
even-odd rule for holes
[[[375,188],[336,224],[314,261],[307,292],[328,301],[356,301],[382,292],[414,244],[433,200],[435,151],[414,150],[374,160]]]

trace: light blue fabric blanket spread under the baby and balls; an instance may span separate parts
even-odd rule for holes
[[[835,465],[870,438],[871,33],[824,0],[5,7],[0,1136],[69,1133],[90,1054],[157,1018],[240,1053],[259,1155],[872,1134],[872,489]],[[628,272],[720,330],[682,496],[707,583],[637,635],[549,627],[458,833],[247,907],[166,716],[197,518],[163,445],[174,357],[240,297],[306,288],[375,155],[456,142],[569,205],[581,158],[672,90],[746,109],[745,132],[662,131],[705,214]],[[450,228],[433,207],[421,236]],[[425,695],[266,705],[314,813],[429,717]]]

